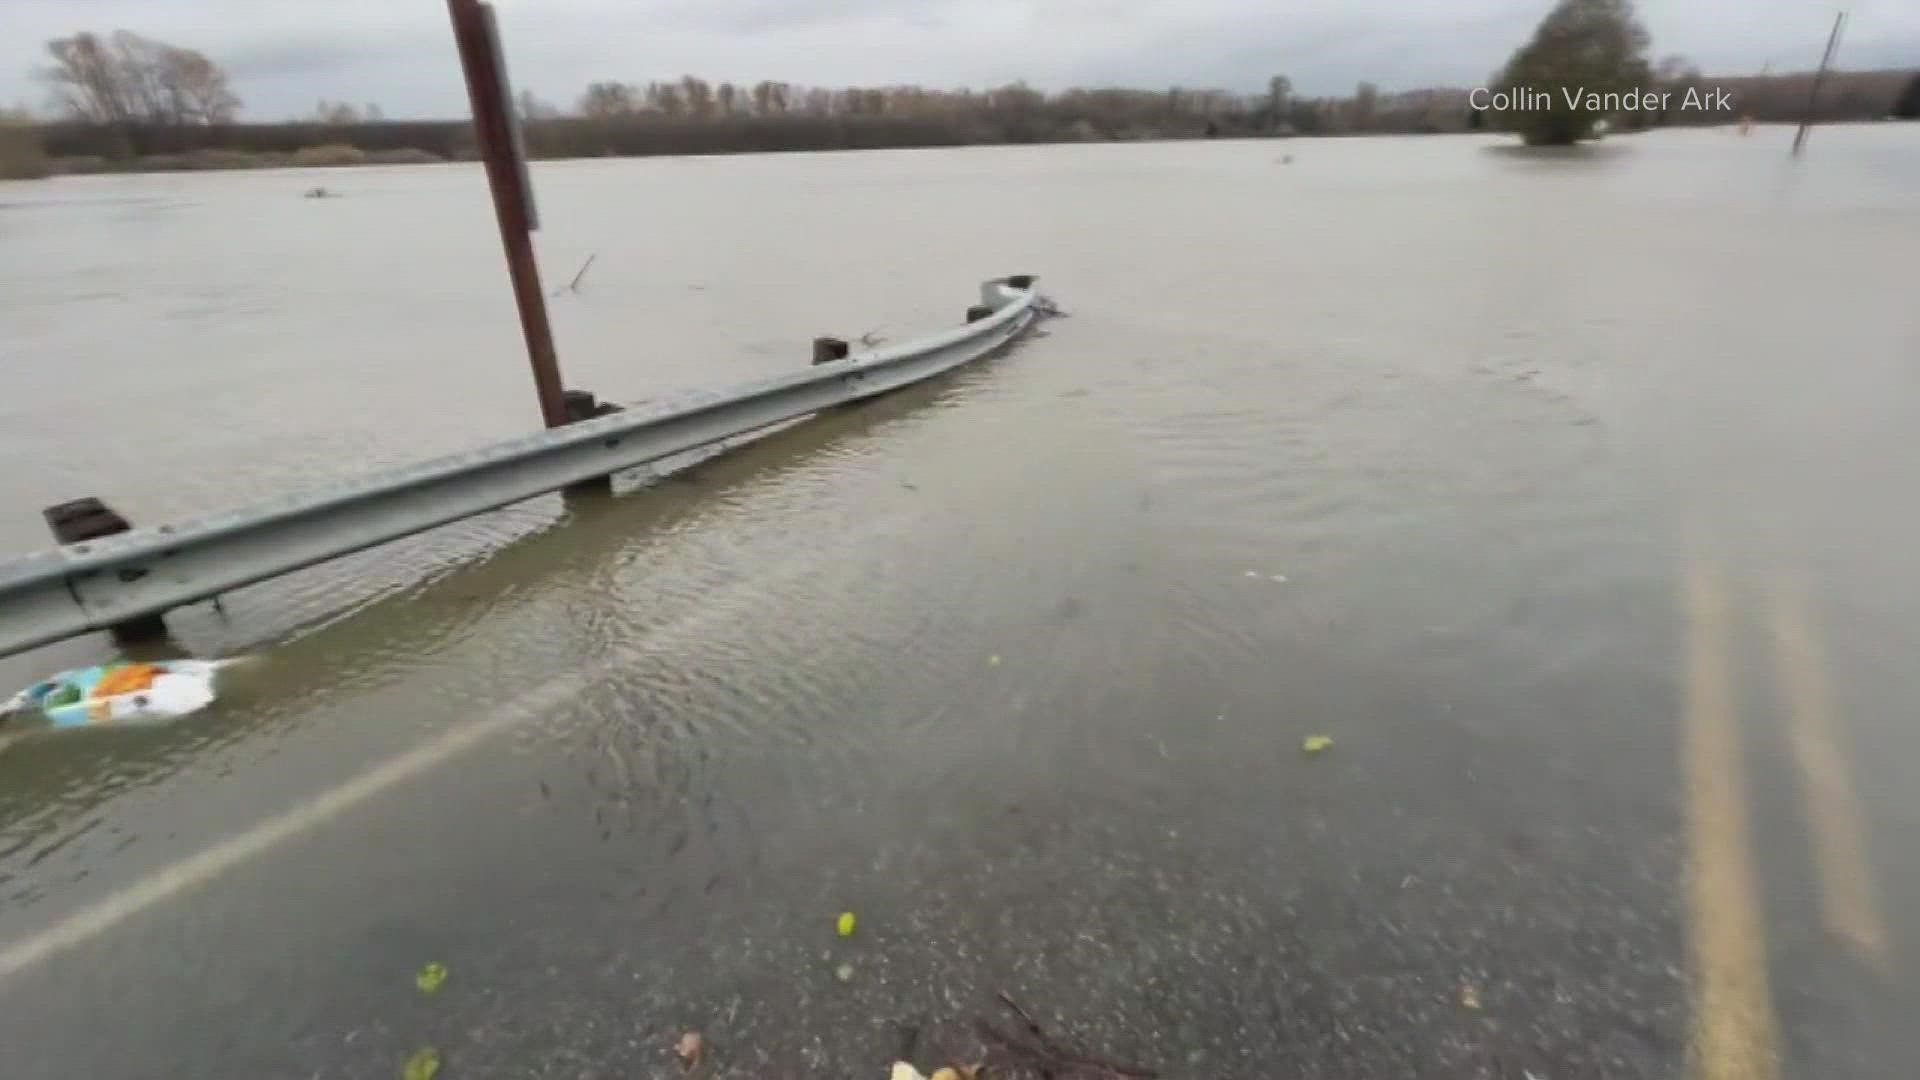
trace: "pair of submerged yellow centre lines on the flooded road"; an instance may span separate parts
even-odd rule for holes
[[[1734,621],[1724,575],[1699,544],[1688,565],[1684,603],[1693,1076],[1778,1080],[1780,1036],[1747,824]],[[1776,578],[1766,592],[1766,607],[1778,690],[1788,703],[1788,744],[1812,822],[1822,919],[1862,961],[1887,970],[1887,934],[1874,899],[1845,730],[1805,588]]]

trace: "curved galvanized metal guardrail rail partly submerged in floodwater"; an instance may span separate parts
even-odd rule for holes
[[[964,327],[808,371],[685,394],[190,523],[0,561],[0,657],[899,390],[987,356],[1039,315],[1031,277],[987,281],[979,298],[981,307]]]

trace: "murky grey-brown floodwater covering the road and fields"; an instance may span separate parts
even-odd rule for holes
[[[175,613],[0,753],[4,1072],[1914,1076],[1920,127],[1789,138],[536,167],[603,398],[1069,317]],[[474,167],[0,184],[0,552],[536,415]]]

